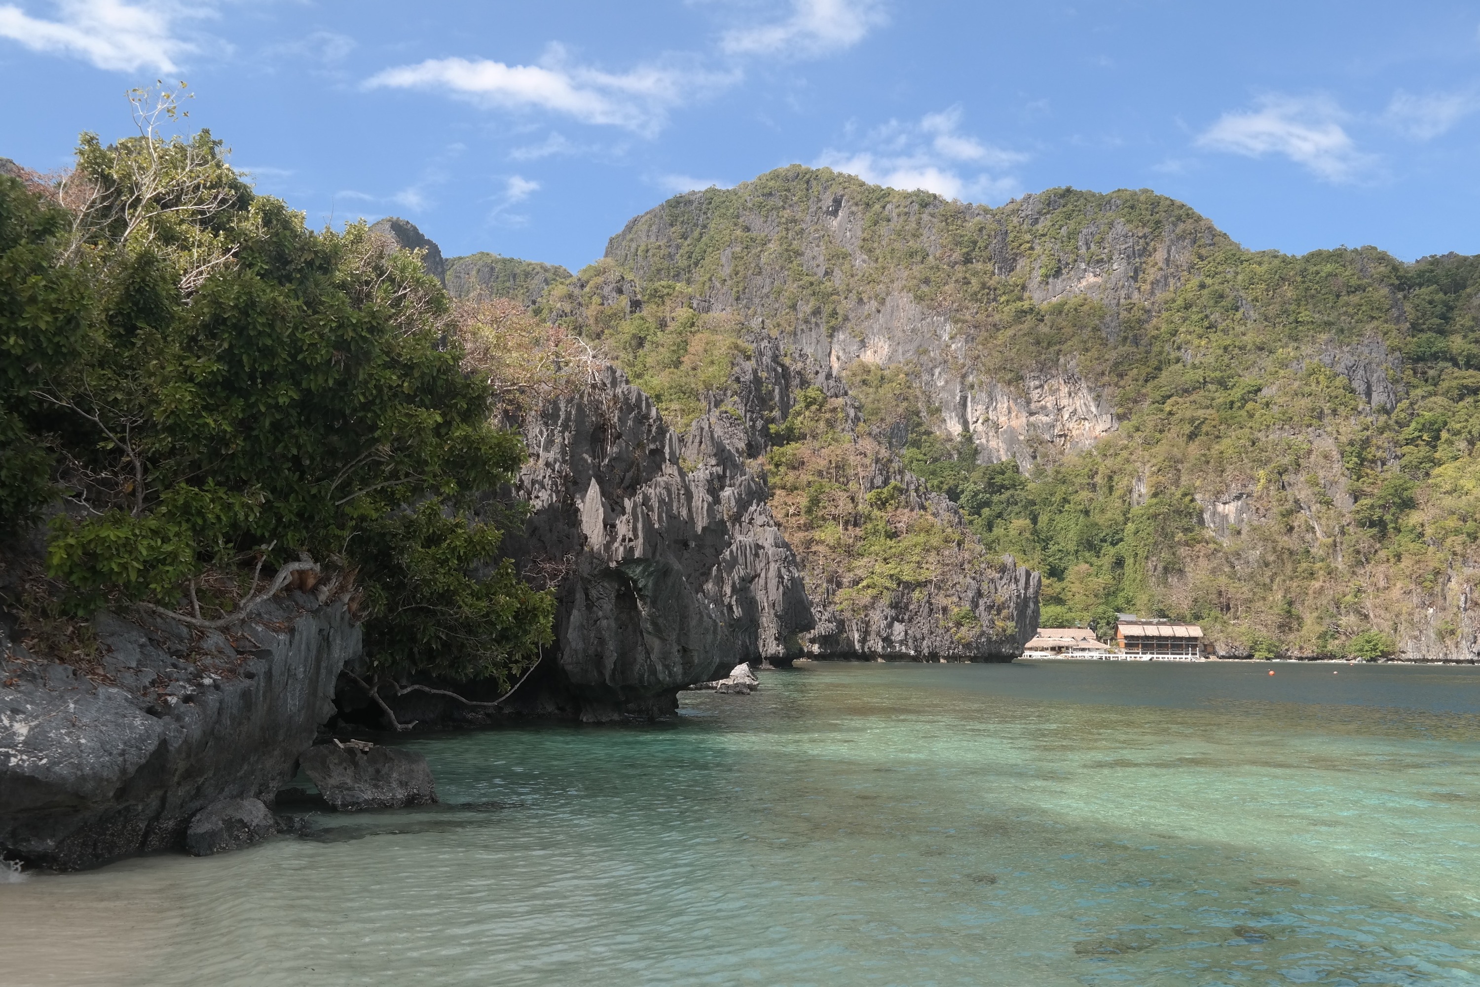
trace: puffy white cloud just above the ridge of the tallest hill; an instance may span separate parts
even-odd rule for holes
[[[926,114],[918,124],[889,121],[867,136],[872,146],[861,151],[827,149],[818,167],[857,175],[873,185],[924,189],[946,198],[1002,201],[1018,189],[1009,175],[990,175],[980,169],[1008,169],[1027,155],[1005,151],[958,130],[961,110]],[[966,170],[963,166],[975,166]]]

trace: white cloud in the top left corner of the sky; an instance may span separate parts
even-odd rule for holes
[[[0,6],[0,37],[121,73],[176,71],[178,59],[197,50],[178,37],[179,21],[207,12],[200,4],[186,10],[169,1],[58,0],[53,6],[55,21],[33,18],[15,4]]]

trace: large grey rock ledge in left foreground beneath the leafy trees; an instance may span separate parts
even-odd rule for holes
[[[181,848],[213,802],[271,801],[361,647],[342,602],[306,593],[234,639],[108,614],[96,633],[112,684],[0,636],[0,851],[56,870]]]

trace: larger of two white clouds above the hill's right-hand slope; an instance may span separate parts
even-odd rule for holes
[[[1328,182],[1353,181],[1370,161],[1341,126],[1345,114],[1323,96],[1265,96],[1259,108],[1225,112],[1197,138],[1197,146],[1248,157],[1283,154]]]

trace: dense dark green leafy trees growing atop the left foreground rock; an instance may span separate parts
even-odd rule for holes
[[[413,256],[363,225],[308,231],[204,132],[84,135],[62,201],[71,223],[0,181],[0,237],[19,243],[0,277],[28,292],[0,339],[36,354],[4,386],[56,462],[50,568],[78,611],[173,605],[209,568],[309,552],[358,570],[383,669],[502,676],[534,656],[551,598],[494,564],[499,525],[469,513],[522,444],[490,425],[494,391],[462,371]]]

